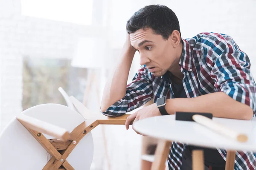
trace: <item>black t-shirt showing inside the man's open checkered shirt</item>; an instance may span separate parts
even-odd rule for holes
[[[170,77],[172,77],[171,74]],[[170,84],[172,84],[172,91],[174,93],[175,98],[187,98],[183,84],[175,84],[173,82],[170,82]],[[203,150],[205,165],[212,167],[225,167],[226,161],[222,158],[217,149],[197,147],[193,145],[187,145],[185,149],[188,149],[190,153],[192,153],[192,150],[194,149]]]

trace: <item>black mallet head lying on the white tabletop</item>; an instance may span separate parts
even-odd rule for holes
[[[198,113],[198,112],[175,112],[175,120],[193,121],[192,116],[199,114],[212,119],[212,113]]]

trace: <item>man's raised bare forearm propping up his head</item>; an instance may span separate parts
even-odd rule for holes
[[[106,111],[113,103],[122,99],[126,94],[126,85],[128,80],[131,63],[135,54],[135,49],[123,48],[119,63],[107,84],[105,85],[101,110]]]

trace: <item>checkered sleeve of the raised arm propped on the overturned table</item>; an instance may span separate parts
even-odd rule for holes
[[[148,102],[152,96],[152,77],[144,66],[135,74],[133,81],[126,86],[126,94],[111,105],[102,114],[106,116],[122,116],[126,112],[139,108]]]

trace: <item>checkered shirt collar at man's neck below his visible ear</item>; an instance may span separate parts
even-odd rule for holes
[[[180,67],[185,68],[187,71],[194,71],[193,63],[192,63],[192,54],[191,47],[187,40],[182,39],[183,48],[182,54],[180,57]]]

